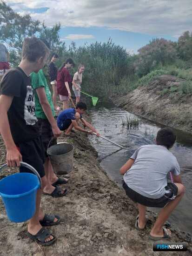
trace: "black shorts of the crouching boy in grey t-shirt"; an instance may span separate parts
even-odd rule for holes
[[[178,194],[178,187],[174,183],[171,183],[171,182],[168,182],[167,186],[165,187],[167,193],[157,199],[149,198],[144,195],[140,195],[136,191],[129,188],[127,186],[126,182],[124,182],[124,181],[123,181],[123,188],[126,191],[126,195],[129,198],[131,198],[133,202],[140,203],[147,207],[163,208],[164,206],[166,206],[166,204],[168,202],[171,202],[172,200],[174,200]]]

